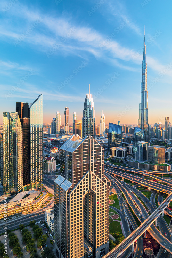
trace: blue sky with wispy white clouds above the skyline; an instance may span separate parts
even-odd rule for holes
[[[82,118],[87,85],[96,124],[137,123],[145,25],[149,123],[171,121],[171,1],[0,2],[0,123],[16,101],[44,94],[44,123]],[[109,80],[109,81],[108,81]],[[18,85],[18,86],[17,86]],[[64,87],[63,87],[64,86]]]

